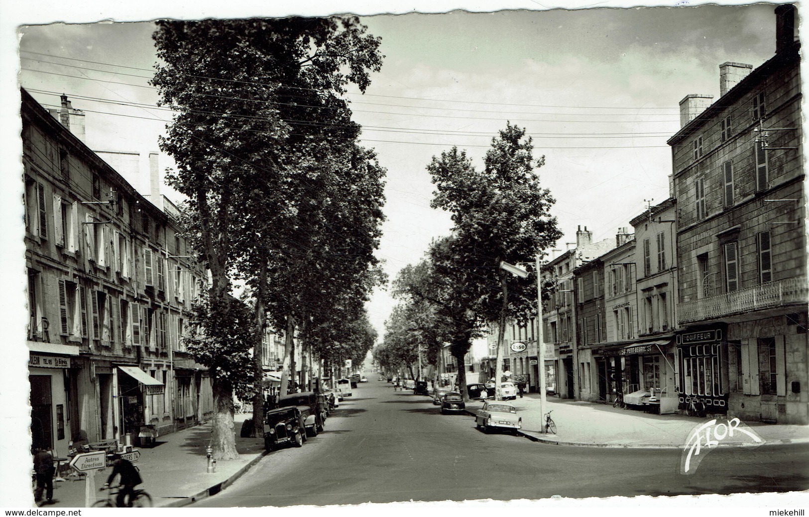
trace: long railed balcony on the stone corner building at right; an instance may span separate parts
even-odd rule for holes
[[[677,307],[678,320],[680,324],[718,320],[728,316],[741,316],[737,318],[739,321],[756,320],[767,315],[745,315],[745,313],[805,304],[809,298],[807,294],[809,286],[805,276],[767,282],[724,295],[680,303],[680,307]]]

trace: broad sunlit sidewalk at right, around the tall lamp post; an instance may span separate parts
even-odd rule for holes
[[[585,447],[683,447],[691,431],[705,418],[676,414],[656,415],[635,409],[613,408],[612,405],[548,397],[544,412],[557,425],[557,434],[541,434],[544,417],[540,414],[540,396],[531,393],[509,400],[523,418],[521,434],[529,439]],[[467,413],[474,415],[483,404],[469,401]],[[773,425],[743,422],[765,440],[765,443],[809,443],[809,426]],[[750,443],[747,435],[737,432],[723,443]]]

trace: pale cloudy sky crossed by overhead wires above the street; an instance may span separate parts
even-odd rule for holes
[[[0,107],[5,110],[0,149],[3,201],[9,201],[0,203],[4,220],[20,220],[22,214],[15,201],[22,195],[16,180],[21,173],[19,85],[46,105],[57,104],[57,95],[66,93],[74,108],[87,113],[92,149],[157,150],[170,116],[155,107],[156,92],[145,87],[155,62],[154,25],[88,22],[366,15],[362,23],[382,37],[386,57],[366,95],[352,91],[349,99],[354,119],[364,128],[363,145],[375,148],[388,171],[387,219],[377,256],[391,279],[420,260],[432,239],[450,231],[449,216],[430,209],[433,185],[426,166],[434,155],[459,146],[482,167],[491,138],[506,121],[521,125],[532,135],[535,157],[544,155],[540,180],[557,199],[552,214],[565,236],[554,249],[564,251],[574,242],[579,225],[593,231],[595,240],[612,239],[644,210],[646,200],[655,204],[668,197],[666,141],[680,127],[680,100],[692,93],[718,98],[720,64],[760,66],[775,49],[773,4],[698,6],[704,2],[665,0],[666,7],[547,11],[588,5],[416,0],[386,2],[384,11],[396,15],[374,15],[382,8],[365,0],[265,3],[147,0],[113,7],[43,0],[11,10],[3,6],[0,91],[6,102]],[[425,12],[443,14],[418,14]],[[77,24],[42,25],[54,21]],[[26,23],[32,25],[16,32]],[[170,167],[172,161],[161,156],[160,164]],[[19,235],[5,231],[0,242],[4,264],[20,272],[22,235],[20,226]],[[3,297],[9,309],[4,318],[24,321],[22,273],[5,289],[10,295]],[[377,290],[367,306],[380,337],[393,303],[387,291]],[[15,375],[24,384],[22,371]]]

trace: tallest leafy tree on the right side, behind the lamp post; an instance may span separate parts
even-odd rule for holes
[[[452,239],[434,248],[440,252],[434,261],[458,279],[453,288],[464,291],[466,307],[478,321],[498,325],[498,398],[506,320],[525,321],[536,311],[536,273],[512,280],[498,266],[533,261],[561,237],[550,215],[555,200],[536,173],[543,165],[544,156],[534,159],[525,129],[508,123],[492,138],[483,170],[456,147],[427,167],[436,186],[431,206],[447,210],[454,223]]]

